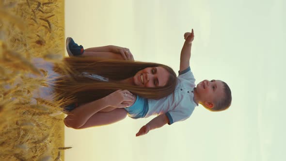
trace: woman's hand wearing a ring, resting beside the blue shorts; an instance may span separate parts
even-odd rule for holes
[[[134,101],[134,97],[127,90],[117,90],[106,98],[107,101],[109,101],[110,106],[115,108],[129,107]]]

